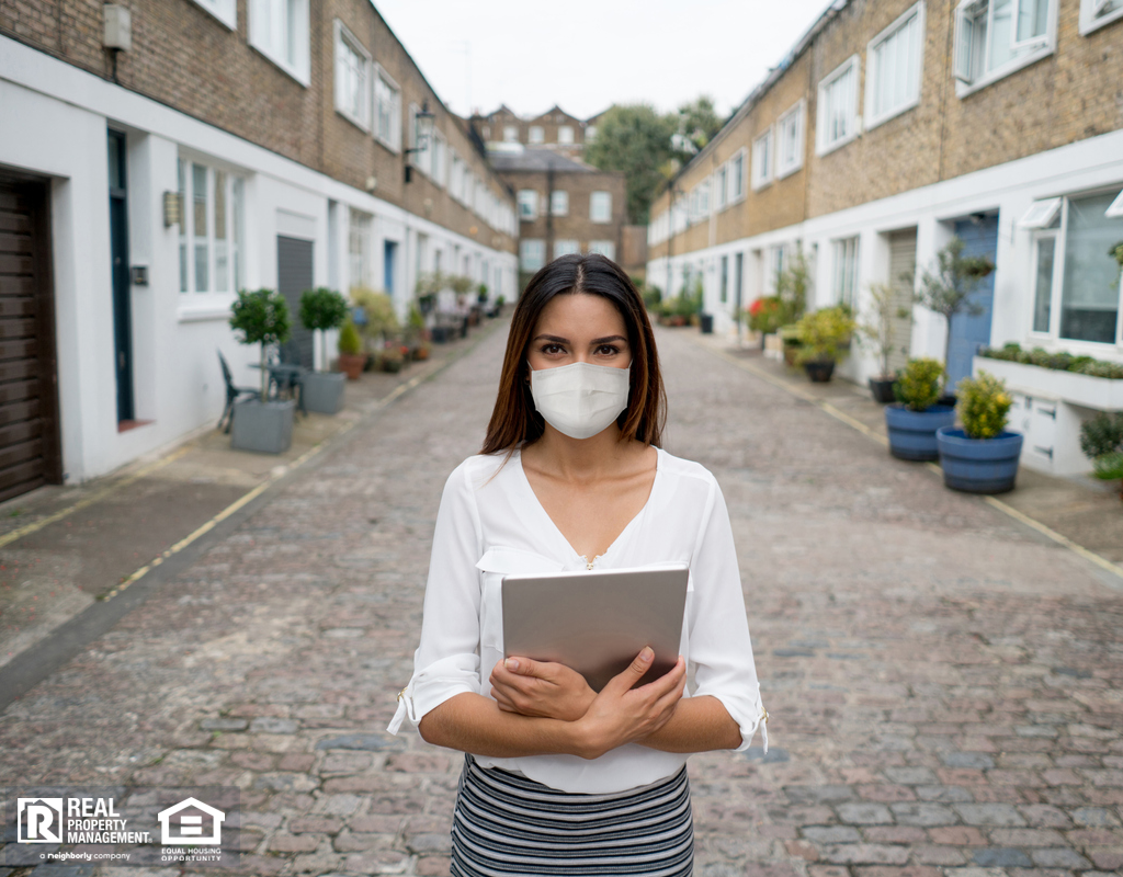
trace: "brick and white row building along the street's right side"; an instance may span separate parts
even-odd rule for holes
[[[839,0],[652,204],[648,277],[677,292],[701,275],[730,330],[797,250],[812,307],[861,312],[871,282],[907,305],[902,275],[958,236],[997,270],[982,313],[950,327],[952,384],[980,346],[1007,341],[1123,362],[1107,255],[1123,240],[1120,83],[1121,0]],[[943,319],[904,310],[893,365],[942,358]],[[856,349],[842,371],[876,367]],[[1011,384],[1023,462],[1088,468],[1077,433],[1094,406],[1023,368]]]

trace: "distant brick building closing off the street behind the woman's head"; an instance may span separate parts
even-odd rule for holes
[[[493,152],[492,166],[519,204],[520,287],[547,262],[568,253],[622,256],[624,174],[600,171],[551,149]]]

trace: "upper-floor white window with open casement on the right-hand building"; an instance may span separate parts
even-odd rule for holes
[[[956,9],[956,79],[962,97],[1052,52],[1056,0],[962,0]]]

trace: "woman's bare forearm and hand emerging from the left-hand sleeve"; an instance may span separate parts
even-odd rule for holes
[[[674,715],[686,683],[682,658],[666,675],[638,688],[654,655],[643,649],[613,677],[577,721],[504,712],[478,694],[458,694],[428,712],[418,725],[426,742],[492,758],[575,755],[599,758],[658,731]]]

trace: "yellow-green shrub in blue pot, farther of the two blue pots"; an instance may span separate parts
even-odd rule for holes
[[[951,405],[937,404],[943,365],[939,359],[910,359],[893,385],[897,402],[885,408],[889,454],[897,459],[940,458],[935,431],[956,422]]]

